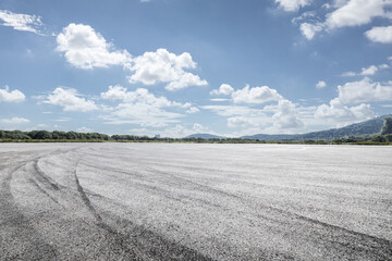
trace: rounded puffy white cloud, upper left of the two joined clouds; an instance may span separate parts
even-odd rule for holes
[[[111,51],[112,45],[89,25],[70,24],[58,35],[57,42],[56,50],[64,52],[68,62],[78,69],[124,65],[131,59],[126,50]]]

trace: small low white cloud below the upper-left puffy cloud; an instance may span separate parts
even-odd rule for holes
[[[86,100],[72,88],[56,88],[46,97],[44,103],[62,107],[64,111],[88,112],[97,110],[93,100]]]

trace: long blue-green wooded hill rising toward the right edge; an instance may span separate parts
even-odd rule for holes
[[[379,117],[371,119],[366,122],[351,124],[341,128],[331,128],[328,130],[313,132],[307,134],[293,134],[293,135],[268,135],[268,134],[256,134],[252,136],[243,136],[244,139],[260,139],[260,140],[332,140],[335,138],[350,137],[350,136],[366,136],[375,135],[380,133],[384,119],[392,117],[392,114],[382,115]]]

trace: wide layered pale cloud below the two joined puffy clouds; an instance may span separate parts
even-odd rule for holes
[[[109,86],[108,91],[101,92],[101,99],[118,101],[106,117],[110,124],[139,124],[140,126],[167,126],[169,123],[179,122],[184,114],[169,111],[177,109],[186,113],[198,111],[191,103],[170,101],[166,97],[156,97],[145,88],[130,91],[122,86]]]

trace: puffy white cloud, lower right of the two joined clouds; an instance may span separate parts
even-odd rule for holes
[[[196,69],[196,63],[188,52],[176,55],[166,49],[158,49],[156,52],[145,52],[143,55],[134,58],[127,67],[134,72],[128,77],[131,83],[143,83],[144,85],[167,83],[166,89],[168,90],[208,84],[198,75],[185,71]]]

